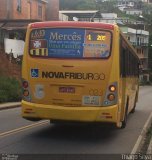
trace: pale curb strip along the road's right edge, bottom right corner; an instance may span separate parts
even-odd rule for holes
[[[146,136],[146,133],[147,133],[147,130],[150,128],[151,126],[151,123],[152,123],[152,113],[150,114],[150,116],[148,117],[142,131],[141,131],[141,134],[139,135],[132,151],[131,151],[131,154],[137,154],[140,152],[141,150],[141,147],[142,147],[142,144],[143,144],[143,140],[144,140],[144,137]]]

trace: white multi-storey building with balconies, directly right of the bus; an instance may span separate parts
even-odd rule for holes
[[[141,29],[121,27],[126,38],[131,42],[137,51],[140,59],[140,81],[149,81],[148,69],[148,44],[149,32]]]

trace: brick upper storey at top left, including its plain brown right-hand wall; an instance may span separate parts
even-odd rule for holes
[[[0,19],[59,20],[59,0],[0,0]]]

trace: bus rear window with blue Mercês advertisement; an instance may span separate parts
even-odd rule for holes
[[[30,35],[29,53],[48,58],[108,58],[110,31],[74,28],[35,29]]]

